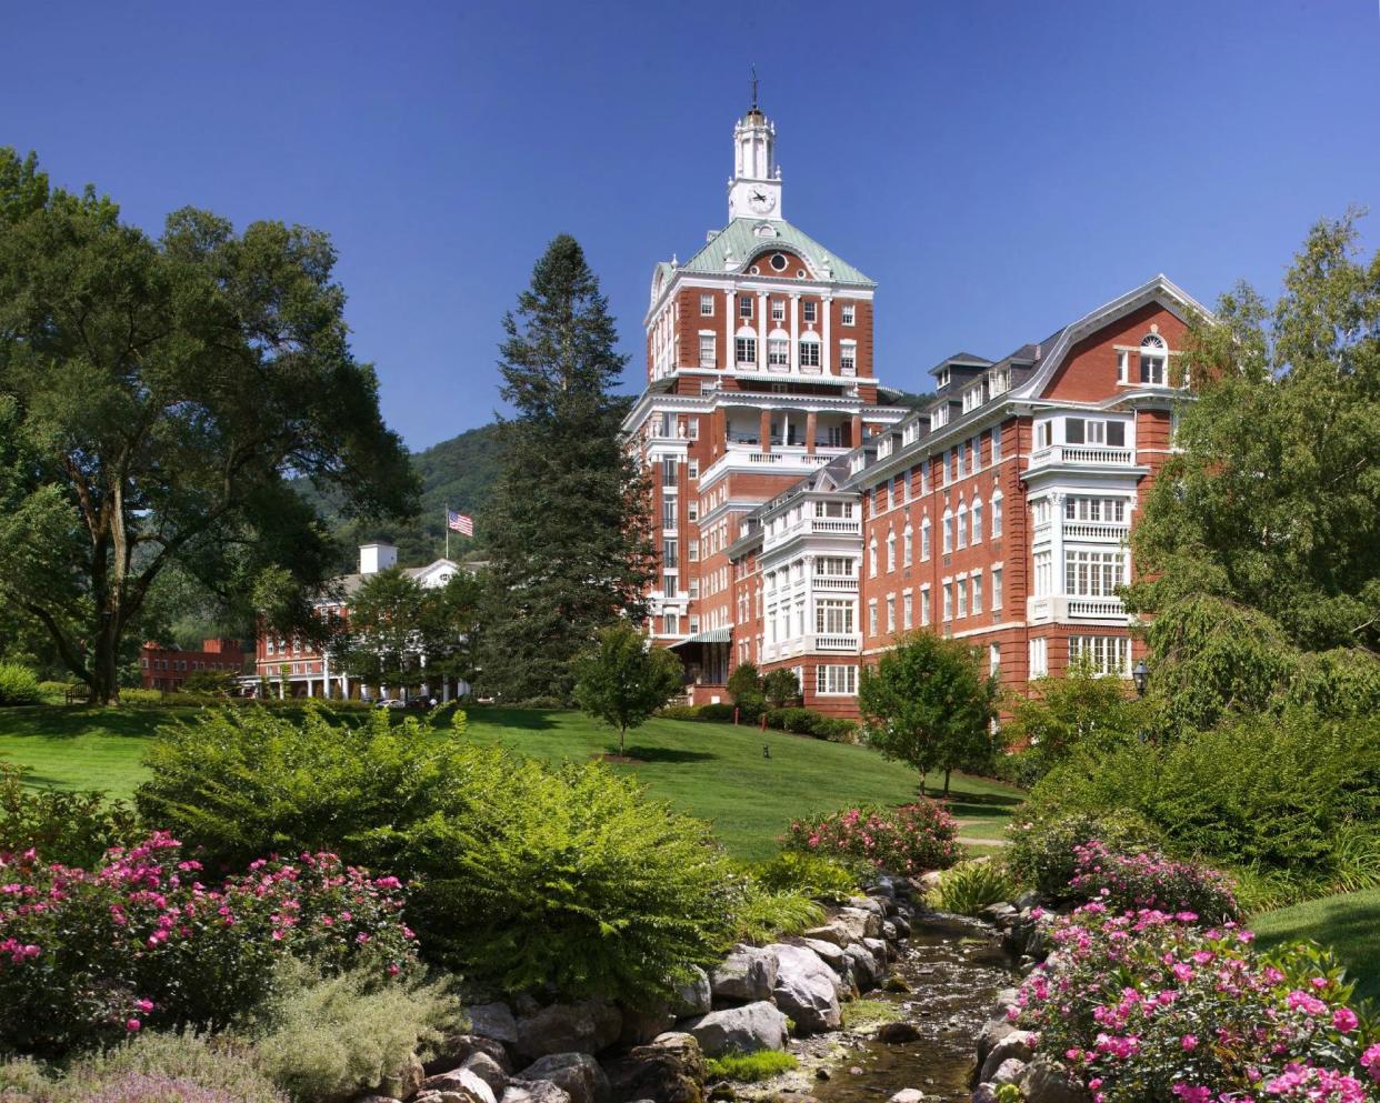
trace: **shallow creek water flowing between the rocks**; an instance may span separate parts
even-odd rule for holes
[[[977,1035],[991,1018],[999,989],[1018,975],[991,928],[959,917],[918,915],[891,967],[914,991],[868,993],[897,1006],[919,1031],[908,1042],[851,1034],[850,1049],[828,1062],[829,1078],[807,1091],[820,1103],[885,1103],[903,1088],[926,1100],[967,1103]]]

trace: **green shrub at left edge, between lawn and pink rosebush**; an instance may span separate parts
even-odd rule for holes
[[[36,849],[48,862],[86,866],[110,847],[134,842],[134,809],[97,791],[29,789],[23,767],[0,762],[0,858]]]

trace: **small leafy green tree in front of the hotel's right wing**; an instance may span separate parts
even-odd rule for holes
[[[936,768],[948,794],[949,771],[991,749],[996,694],[996,678],[966,644],[916,631],[862,669],[858,709],[868,742],[920,772],[920,796]]]

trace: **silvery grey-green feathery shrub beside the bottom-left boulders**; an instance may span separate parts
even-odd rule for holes
[[[295,1099],[346,1097],[374,1088],[460,1026],[451,982],[378,987],[370,972],[312,976],[284,962],[270,1026],[254,1040],[257,1063]]]

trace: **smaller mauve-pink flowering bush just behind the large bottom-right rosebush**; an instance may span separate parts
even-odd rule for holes
[[[1241,918],[1225,874],[1192,862],[1173,862],[1159,851],[1116,853],[1100,840],[1090,840],[1074,848],[1068,884],[1075,899],[1098,900],[1112,911],[1194,911],[1208,922]]]

